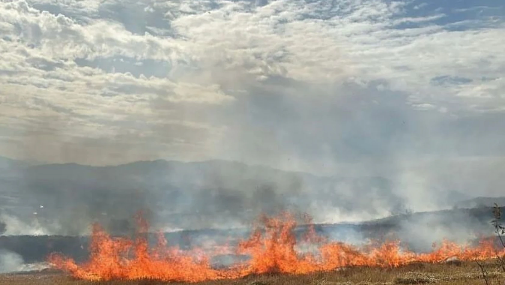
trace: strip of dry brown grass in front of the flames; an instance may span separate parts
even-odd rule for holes
[[[490,281],[505,280],[499,266],[494,262],[483,265],[489,273]],[[29,273],[0,275],[0,285],[161,285],[167,282],[157,280],[130,280],[88,282],[74,280],[59,273]],[[183,283],[171,283],[183,284]],[[474,262],[462,264],[411,264],[409,266],[380,268],[348,268],[333,272],[307,275],[271,274],[247,276],[233,280],[216,280],[196,283],[197,285],[380,285],[380,284],[443,284],[443,285],[484,285],[482,274]]]

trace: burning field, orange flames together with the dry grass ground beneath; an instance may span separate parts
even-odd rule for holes
[[[416,253],[399,241],[370,241],[359,247],[329,241],[314,231],[307,216],[304,223],[308,230],[297,237],[294,215],[261,216],[247,239],[192,249],[170,246],[161,234],[151,246],[148,224],[141,216],[131,238],[112,237],[94,224],[86,262],[54,253],[48,257],[53,269],[47,272],[63,275],[12,274],[2,277],[0,284],[480,284],[482,272],[491,279],[502,274],[493,259],[505,249],[495,238],[471,245],[444,241],[434,244],[431,252]],[[223,256],[247,258],[227,266],[213,264]]]

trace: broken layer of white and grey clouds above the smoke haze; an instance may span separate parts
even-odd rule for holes
[[[72,138],[106,140],[126,132],[156,139],[167,121],[188,132],[199,126],[234,133],[239,129],[230,122],[246,120],[234,108],[244,102],[254,109],[277,101],[277,108],[306,111],[309,118],[332,100],[351,97],[343,94],[351,85],[401,94],[398,100],[410,105],[404,117],[501,111],[501,6],[377,0],[1,5],[3,124],[23,132],[40,132],[34,122],[49,120]],[[491,12],[468,14],[477,8]],[[462,29],[461,13],[480,25]],[[238,89],[245,93],[233,92]],[[299,90],[316,93],[286,95]],[[297,109],[314,96],[321,106]],[[396,100],[371,97],[363,96],[376,100],[377,109]],[[139,130],[145,127],[150,134]]]

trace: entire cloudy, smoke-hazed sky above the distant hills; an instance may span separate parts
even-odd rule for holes
[[[0,155],[501,185],[502,1],[1,0],[0,35]]]

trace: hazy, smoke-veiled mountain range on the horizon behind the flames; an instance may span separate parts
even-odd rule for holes
[[[4,218],[8,233],[38,228],[78,235],[91,221],[121,232],[131,229],[139,209],[155,225],[201,229],[234,226],[281,209],[303,209],[320,218],[332,209],[343,217],[374,216],[378,208],[402,212],[405,205],[382,177],[318,177],[223,160],[100,167],[20,162],[10,169],[11,175],[0,173],[0,209],[17,217]]]

